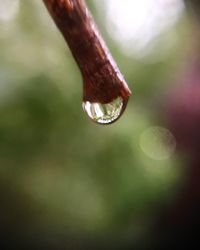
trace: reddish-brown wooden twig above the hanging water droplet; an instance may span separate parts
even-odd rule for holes
[[[84,0],[43,0],[81,70],[83,100],[128,100],[131,91],[114,62]]]

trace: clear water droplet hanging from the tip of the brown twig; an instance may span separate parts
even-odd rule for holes
[[[83,102],[83,109],[92,121],[99,124],[115,122],[124,112],[128,99],[117,97],[110,103]]]

